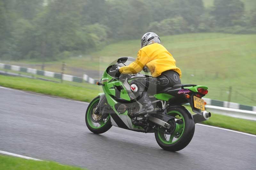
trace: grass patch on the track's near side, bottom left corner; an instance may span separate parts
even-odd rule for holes
[[[61,165],[52,161],[36,161],[12,156],[0,155],[0,169],[12,170],[82,170],[82,168],[75,166]]]

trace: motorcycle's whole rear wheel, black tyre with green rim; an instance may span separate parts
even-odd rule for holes
[[[158,127],[155,131],[156,142],[166,151],[180,151],[193,138],[195,132],[194,120],[184,107],[169,108],[167,114],[175,117],[176,127],[171,134]]]

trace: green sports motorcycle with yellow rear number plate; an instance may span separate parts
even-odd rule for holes
[[[146,67],[143,73],[117,74],[116,67],[129,65],[134,58],[121,57],[110,64],[102,74],[97,85],[102,86],[100,93],[89,104],[85,113],[88,129],[96,134],[108,131],[112,125],[137,132],[155,133],[156,142],[166,151],[180,151],[191,141],[195,124],[208,120],[202,99],[208,87],[194,84],[176,84],[152,94],[151,101],[155,110],[134,113],[142,109],[135,96],[136,86],[132,80],[151,78]],[[119,76],[120,75],[120,76]],[[147,82],[146,82],[147,83]],[[190,104],[196,114],[191,114],[184,104]]]

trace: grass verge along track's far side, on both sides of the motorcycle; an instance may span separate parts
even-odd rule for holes
[[[90,102],[98,93],[102,92],[101,87],[83,83],[84,87],[74,87],[65,83],[35,80],[23,77],[9,77],[0,75],[0,86],[33,91],[46,95],[71,98],[74,100]],[[190,111],[191,109],[188,108]],[[256,135],[256,122],[229,116],[212,114],[212,117],[203,122],[207,125],[228,128],[245,133]]]

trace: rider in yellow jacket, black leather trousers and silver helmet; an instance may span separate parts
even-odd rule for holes
[[[181,70],[176,67],[176,61],[172,54],[161,45],[160,38],[153,32],[144,34],[141,38],[141,49],[138,51],[137,58],[128,66],[119,68],[121,74],[135,74],[143,70],[144,66],[148,67],[151,72],[152,79],[145,80],[150,82],[148,90],[159,91],[165,87],[172,87],[174,84],[180,84]],[[154,106],[147,91],[143,88],[145,81],[133,81],[133,84],[138,86],[140,99],[138,100],[143,105],[143,110],[135,113],[138,114],[146,110],[151,112]],[[153,83],[152,83],[153,82]],[[156,82],[156,83],[154,83]],[[132,84],[131,83],[131,84]]]

